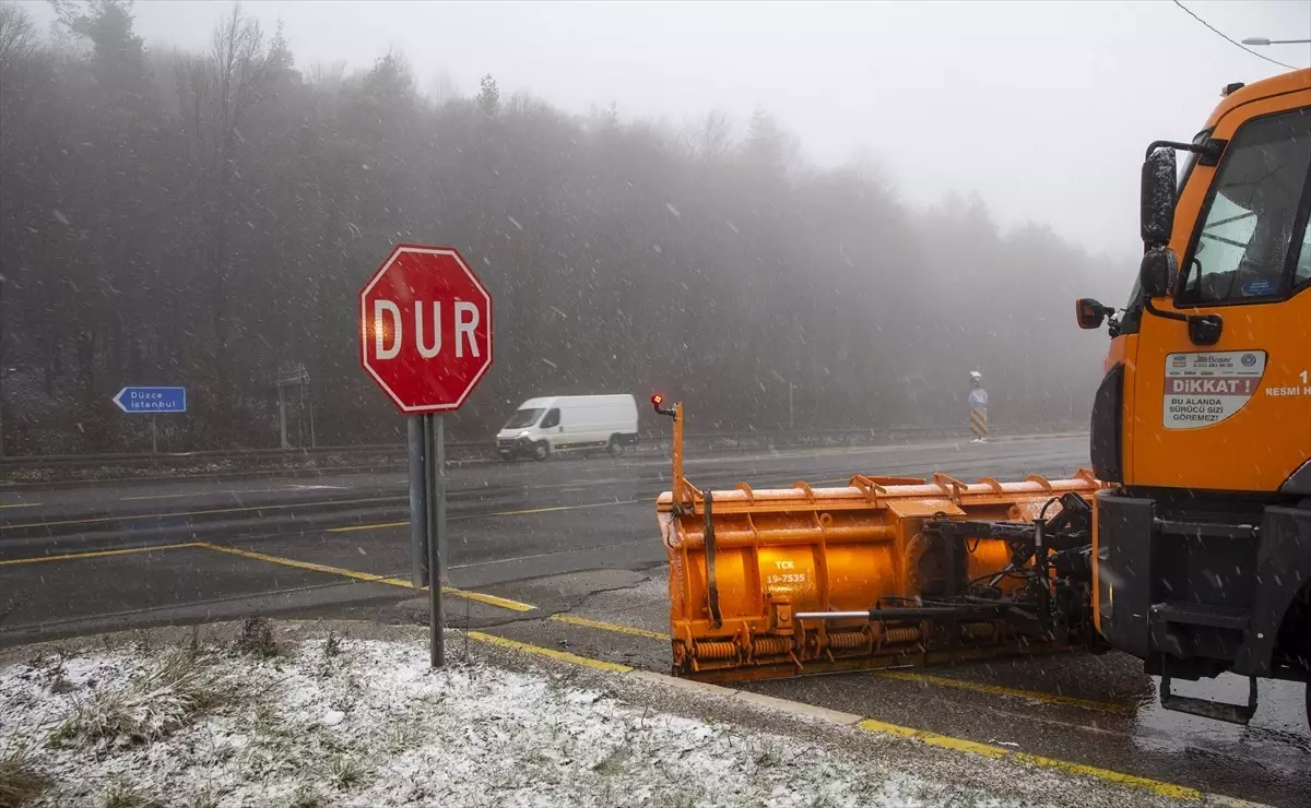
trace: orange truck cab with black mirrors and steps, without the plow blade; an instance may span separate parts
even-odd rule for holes
[[[1183,170],[1176,152],[1185,155]],[[1145,253],[1092,411],[1093,619],[1165,707],[1245,723],[1311,673],[1311,69],[1230,85],[1147,149]],[[1247,705],[1172,678],[1249,677]],[[1308,693],[1311,714],[1311,693]]]

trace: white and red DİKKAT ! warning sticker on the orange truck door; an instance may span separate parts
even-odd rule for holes
[[[1238,413],[1261,385],[1265,351],[1165,356],[1165,428],[1198,430]]]

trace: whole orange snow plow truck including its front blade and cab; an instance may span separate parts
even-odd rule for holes
[[[1183,172],[1176,153],[1184,153]],[[1311,672],[1311,69],[1230,85],[1142,168],[1139,279],[1072,479],[659,496],[679,676],[725,681],[1117,648],[1167,708],[1245,723]],[[1232,672],[1247,703],[1171,693]],[[1311,691],[1308,691],[1311,720]]]

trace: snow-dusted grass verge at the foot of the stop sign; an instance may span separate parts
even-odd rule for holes
[[[1009,805],[785,735],[652,711],[418,640],[279,656],[94,648],[0,668],[30,805]]]

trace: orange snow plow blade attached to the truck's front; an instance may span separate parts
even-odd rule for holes
[[[653,399],[654,401],[654,399]],[[767,678],[1093,646],[1091,505],[1101,487],[864,477],[813,488],[701,491],[657,511],[669,553],[674,672]]]

